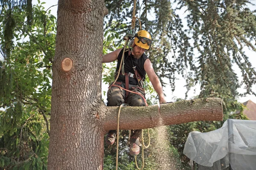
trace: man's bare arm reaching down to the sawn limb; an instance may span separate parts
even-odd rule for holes
[[[148,74],[148,78],[150,79],[150,82],[152,83],[154,90],[157,92],[159,96],[159,102],[166,103],[165,96],[163,94],[163,87],[161,85],[161,82],[159,78],[157,77],[156,73],[154,72],[154,68],[152,66],[152,63],[149,59],[147,59],[144,63],[144,70]]]

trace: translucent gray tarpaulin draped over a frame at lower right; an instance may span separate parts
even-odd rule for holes
[[[201,170],[256,170],[256,121],[228,119],[220,129],[193,131],[183,153]]]

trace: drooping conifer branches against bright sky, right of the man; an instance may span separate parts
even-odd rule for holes
[[[106,21],[129,23],[133,3],[118,2],[105,0],[109,10]],[[153,37],[148,56],[158,76],[167,77],[172,89],[175,89],[175,73],[186,79],[187,90],[199,83],[199,97],[224,94],[235,101],[241,85],[245,85],[244,94],[256,95],[252,89],[256,71],[245,54],[247,48],[256,52],[256,17],[249,7],[253,4],[248,0],[137,1],[136,17]],[[128,34],[131,27],[127,25],[113,29]],[[242,82],[233,65],[240,68]]]

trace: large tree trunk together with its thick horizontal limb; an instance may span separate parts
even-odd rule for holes
[[[107,130],[116,129],[117,123],[117,107],[106,107],[101,101],[103,17],[106,11],[103,0],[58,2],[49,170],[103,169],[104,135]],[[203,105],[193,100],[180,102],[180,105],[163,105],[160,113],[156,106],[126,107],[122,109],[120,127],[148,128],[204,118],[222,119],[220,101],[210,99],[208,103],[207,99],[201,100]],[[131,109],[134,114],[128,113]],[[168,112],[171,113],[169,116]],[[148,125],[148,121],[152,125]]]

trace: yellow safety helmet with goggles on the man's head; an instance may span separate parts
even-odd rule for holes
[[[140,30],[134,36],[134,43],[141,48],[148,50],[151,47],[151,35],[148,31]]]

